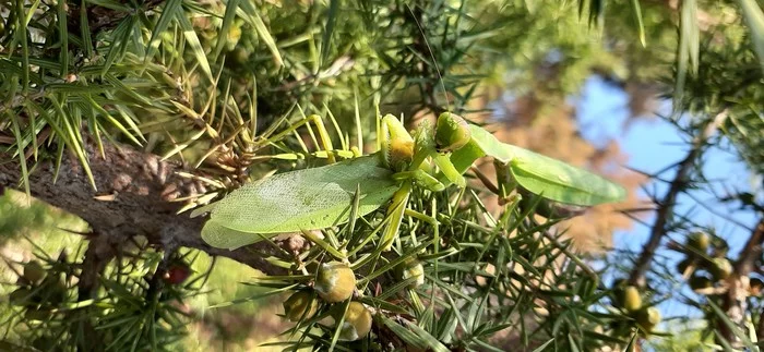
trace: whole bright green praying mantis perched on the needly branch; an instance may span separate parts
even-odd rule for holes
[[[379,244],[387,250],[414,187],[432,192],[464,187],[463,174],[482,157],[494,158],[522,189],[556,203],[594,206],[625,197],[625,190],[613,182],[502,143],[451,112],[438,118],[434,130],[423,122],[413,135],[392,114],[379,122],[375,154],[275,174],[196,209],[192,216],[210,213],[202,229],[204,241],[232,250],[284,232],[343,224],[387,205]]]

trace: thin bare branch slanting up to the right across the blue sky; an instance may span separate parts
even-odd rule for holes
[[[650,263],[653,262],[653,257],[655,256],[655,252],[660,245],[660,240],[667,233],[666,224],[669,222],[669,218],[673,213],[673,206],[677,203],[677,197],[687,187],[688,174],[690,173],[690,170],[692,170],[695,160],[701,155],[701,150],[703,149],[706,139],[708,139],[708,137],[711,137],[716,132],[718,126],[724,123],[724,121],[727,119],[727,116],[728,110],[725,109],[718,114],[716,114],[716,117],[714,117],[713,120],[708,121],[706,126],[703,129],[703,132],[701,132],[701,134],[696,136],[693,141],[692,149],[690,150],[690,153],[688,153],[687,157],[684,157],[684,159],[680,161],[677,166],[677,175],[673,178],[673,181],[671,181],[669,190],[666,192],[662,199],[657,202],[658,209],[655,223],[650,229],[649,239],[642,248],[642,253],[636,259],[634,268],[632,269],[632,272],[629,276],[629,284],[637,287],[645,286],[645,275],[649,269]]]

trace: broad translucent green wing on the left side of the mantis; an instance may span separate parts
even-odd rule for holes
[[[377,163],[375,156],[368,156],[244,185],[205,208],[211,214],[202,238],[212,246],[235,248],[276,233],[344,223],[357,186],[358,216],[367,215],[398,189],[392,171]]]

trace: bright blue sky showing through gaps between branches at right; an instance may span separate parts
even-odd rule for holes
[[[624,130],[624,121],[629,117],[628,102],[629,97],[623,90],[605,83],[600,77],[589,78],[582,96],[576,99],[578,120],[584,137],[595,144],[617,139],[622,151],[629,155],[628,166],[645,172],[656,172],[687,156],[688,145],[680,133],[675,126],[661,119],[641,119]],[[665,104],[662,108],[668,110],[670,106]],[[703,169],[711,180],[715,180],[713,189],[720,194],[728,193],[728,190],[751,190],[751,184],[754,182],[747,171],[745,165],[739,161],[737,156],[718,148],[711,149],[705,155]],[[671,180],[673,175],[672,170],[664,173],[662,178]],[[647,189],[662,195],[666,193],[667,185],[662,182],[650,182]],[[644,190],[641,191],[641,194],[645,199],[647,198]],[[679,198],[677,210],[688,214],[700,224],[716,228],[717,234],[729,242],[730,253],[735,257],[750,232],[743,227],[724,219],[719,214],[731,217],[749,228],[753,228],[755,224],[754,215],[737,211],[718,204],[714,201],[714,195],[708,192],[693,191],[692,196],[713,208],[714,211],[697,206],[697,202],[687,195]],[[650,215],[646,222],[652,223],[654,217]],[[617,248],[638,251],[647,241],[648,233],[647,227],[636,224],[630,231],[617,232],[613,244]],[[672,238],[681,240],[677,234],[673,234]],[[681,259],[677,254],[667,251],[662,251],[661,254],[672,256],[676,260]],[[682,292],[692,294],[687,288]],[[676,300],[664,302],[660,308],[667,316],[697,315],[696,311]]]

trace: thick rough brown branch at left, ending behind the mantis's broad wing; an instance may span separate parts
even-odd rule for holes
[[[29,175],[29,189],[32,195],[40,201],[85,220],[96,238],[105,236],[97,246],[102,254],[110,251],[106,250],[109,245],[119,246],[128,243],[131,236],[142,235],[151,244],[163,248],[196,248],[210,255],[231,258],[265,274],[284,272],[264,259],[277,255],[277,248],[263,242],[235,251],[214,248],[200,235],[203,218],[177,215],[182,204],[169,201],[205,192],[203,185],[177,175],[176,171],[181,170],[178,163],[108,143],[104,143],[103,157],[97,150],[95,144],[87,144],[86,151],[97,191],[93,190],[74,157],[64,157],[55,183],[55,165],[51,161],[38,162]],[[17,158],[0,155],[0,190],[17,187],[20,170]],[[93,251],[96,251],[95,247]],[[88,254],[91,252],[88,250]],[[86,294],[87,287],[82,289],[82,293]]]

